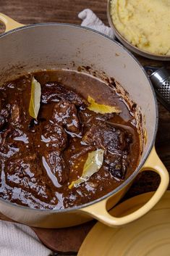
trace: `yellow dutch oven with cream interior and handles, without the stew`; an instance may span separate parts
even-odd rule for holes
[[[20,223],[45,228],[75,226],[91,218],[114,227],[145,215],[166,191],[169,173],[154,147],[158,109],[153,86],[143,67],[116,41],[88,28],[58,23],[24,26],[2,14],[0,20],[5,23],[7,32],[0,36],[1,83],[27,71],[56,67],[77,70],[81,65],[92,65],[95,70],[103,70],[109,77],[114,77],[129,92],[145,115],[147,131],[147,142],[137,169],[106,196],[65,210],[34,210],[0,199],[0,211]],[[122,218],[111,216],[108,210],[119,202],[137,174],[144,170],[153,170],[161,177],[153,197],[130,215]]]

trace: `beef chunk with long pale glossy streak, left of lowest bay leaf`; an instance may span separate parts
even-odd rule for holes
[[[68,180],[69,172],[67,165],[60,152],[46,151],[42,157],[43,168],[45,168],[48,177],[54,186],[61,187]]]

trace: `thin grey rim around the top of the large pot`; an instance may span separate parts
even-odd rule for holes
[[[120,48],[123,49],[123,51],[126,51],[127,54],[129,54],[129,57],[131,57],[135,63],[140,67],[141,72],[143,72],[143,75],[145,75],[145,77],[148,80],[148,86],[150,86],[152,94],[153,94],[153,104],[154,104],[154,109],[155,109],[155,113],[156,113],[156,125],[154,128],[154,132],[153,132],[153,140],[151,141],[150,145],[148,146],[148,150],[145,153],[143,160],[140,161],[140,164],[137,165],[137,168],[134,170],[134,172],[125,180],[122,182],[122,184],[120,184],[119,186],[116,187],[116,189],[112,190],[111,192],[109,192],[108,194],[105,194],[103,197],[99,197],[98,199],[95,199],[93,201],[90,201],[88,203],[85,203],[83,205],[78,205],[75,207],[68,207],[68,208],[64,208],[64,209],[58,209],[55,210],[54,209],[36,209],[36,208],[30,208],[27,206],[22,206],[22,205],[17,205],[13,202],[9,202],[6,199],[3,199],[0,197],[0,203],[3,202],[4,204],[8,205],[9,207],[14,207],[14,208],[20,208],[22,210],[30,210],[32,212],[41,212],[43,214],[49,214],[49,213],[61,213],[61,212],[75,212],[76,210],[81,210],[84,207],[88,207],[90,205],[95,205],[95,203],[101,202],[104,199],[109,199],[109,197],[113,196],[114,194],[116,194],[118,191],[121,191],[124,187],[126,187],[131,181],[133,181],[133,179],[137,176],[137,174],[140,172],[140,169],[142,168],[142,166],[144,165],[145,161],[148,159],[148,156],[151,152],[151,150],[153,149],[153,146],[155,144],[156,141],[156,133],[158,131],[158,104],[157,104],[157,99],[156,99],[156,92],[153,88],[153,85],[148,77],[148,74],[146,73],[144,67],[140,64],[140,62],[137,60],[137,58],[132,54],[132,52],[130,52],[127,48],[125,48],[122,44],[120,44],[119,42],[115,41],[114,39],[110,38],[109,36],[104,35],[103,33],[100,33],[92,28],[87,28],[87,27],[83,27],[81,25],[75,25],[75,24],[69,24],[69,23],[59,23],[59,22],[43,22],[43,23],[35,23],[33,25],[25,25],[22,26],[20,28],[14,28],[12,30],[7,31],[6,33],[2,33],[0,35],[0,41],[1,38],[4,38],[12,33],[17,33],[18,31],[24,31],[27,29],[31,29],[31,28],[37,28],[37,27],[46,27],[46,26],[59,26],[59,27],[63,27],[63,26],[67,26],[67,27],[71,27],[71,28],[76,28],[76,29],[80,29],[80,30],[88,30],[91,33],[95,33],[98,34],[98,36],[102,36],[104,38],[106,38],[106,40],[111,41],[111,44],[116,44],[117,46],[119,46]]]

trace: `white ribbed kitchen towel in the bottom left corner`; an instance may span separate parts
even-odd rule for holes
[[[0,221],[0,256],[48,256],[33,230],[25,225]]]

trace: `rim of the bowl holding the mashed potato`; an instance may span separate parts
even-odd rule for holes
[[[109,21],[109,25],[114,30],[115,36],[121,41],[124,46],[126,46],[129,50],[135,52],[135,54],[139,54],[140,56],[146,57],[148,59],[156,59],[156,60],[163,60],[163,61],[169,61],[170,55],[161,55],[161,54],[152,54],[150,51],[145,51],[143,49],[138,48],[137,46],[134,46],[133,44],[129,43],[124,36],[119,32],[119,30],[116,29],[114,22],[111,18],[111,1],[113,0],[107,0],[107,18]]]

